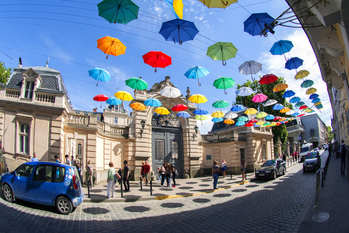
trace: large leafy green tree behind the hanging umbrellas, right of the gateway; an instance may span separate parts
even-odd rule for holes
[[[266,96],[268,96],[269,100],[276,100],[277,103],[280,103],[284,105],[285,107],[288,107],[289,109],[293,109],[293,105],[286,101],[282,95],[285,93],[285,90],[280,92],[273,92],[273,87],[278,84],[284,82],[284,79],[279,77],[275,82],[272,82],[270,84],[260,84],[258,80],[250,81],[247,80],[247,82],[243,83],[243,85],[237,84],[237,88],[240,87],[250,87],[253,89],[254,93],[263,93]],[[236,96],[235,104],[242,104],[245,107],[248,108],[255,108],[258,111],[265,111],[267,114],[272,114],[275,116],[281,116],[286,117],[284,113],[281,113],[278,110],[273,110],[273,106],[266,106],[264,107],[261,103],[255,103],[252,101],[253,95],[250,96]],[[274,142],[276,143],[278,141],[278,138],[280,138],[281,143],[286,143],[287,140],[287,130],[286,126],[284,124],[282,125],[275,125],[272,127],[272,132],[274,134]]]

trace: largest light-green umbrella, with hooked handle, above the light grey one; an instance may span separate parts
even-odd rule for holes
[[[230,42],[217,42],[207,48],[206,55],[213,60],[222,61],[225,66],[227,63],[224,63],[223,61],[235,57],[237,51],[238,49]]]

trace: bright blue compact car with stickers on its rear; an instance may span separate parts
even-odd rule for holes
[[[16,198],[56,206],[61,214],[74,211],[84,200],[77,169],[56,162],[26,162],[13,172],[1,174],[6,201]]]

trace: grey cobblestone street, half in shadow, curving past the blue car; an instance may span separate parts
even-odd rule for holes
[[[322,155],[322,164],[325,156]],[[200,196],[82,203],[68,216],[54,207],[0,198],[1,232],[298,232],[315,195],[302,163],[276,180],[255,180]]]

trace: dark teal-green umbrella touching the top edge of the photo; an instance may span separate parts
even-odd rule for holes
[[[126,24],[138,18],[139,7],[131,0],[103,0],[97,7],[98,15],[110,23]]]

